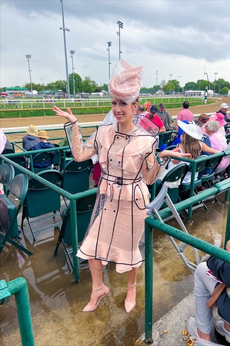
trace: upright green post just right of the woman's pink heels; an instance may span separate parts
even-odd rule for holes
[[[153,232],[145,221],[145,342],[152,342]]]

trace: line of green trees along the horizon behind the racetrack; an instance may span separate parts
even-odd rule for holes
[[[75,92],[100,92],[102,90],[108,91],[108,84],[104,83],[103,85],[98,85],[94,80],[91,80],[90,77],[82,77],[78,73],[74,73],[74,83],[75,83]],[[168,80],[167,82],[163,79],[159,85],[154,85],[151,88],[143,87],[141,88],[142,92],[155,93],[159,89],[162,89],[165,93],[183,92],[188,90],[204,90],[206,86],[210,86],[211,90],[215,89],[215,92],[220,94],[227,94],[230,89],[230,82],[224,80],[223,78],[218,78],[216,81],[207,81],[205,79],[198,79],[197,82],[187,82],[184,87],[181,87],[177,79]],[[19,87],[19,86],[15,86]],[[27,89],[31,89],[30,83],[25,83],[23,86]],[[33,90],[36,91],[46,91],[46,90],[62,90],[66,92],[66,80],[59,79],[55,82],[48,84],[41,83],[32,83]],[[4,92],[6,87],[0,88],[0,92]],[[69,74],[69,89],[70,93],[73,94],[73,74]]]

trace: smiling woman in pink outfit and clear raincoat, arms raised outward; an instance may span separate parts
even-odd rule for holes
[[[135,116],[138,95],[142,86],[142,67],[133,68],[125,60],[115,67],[109,82],[115,123],[101,125],[83,144],[79,126],[70,109],[67,112],[53,107],[57,115],[65,117],[67,137],[77,162],[97,154],[101,178],[93,215],[77,255],[88,259],[92,275],[90,302],[83,311],[96,310],[101,298],[109,295],[103,284],[102,269],[108,262],[116,263],[118,273],[128,273],[125,310],[136,304],[136,276],[143,259],[139,242],[144,232],[145,207],[149,203],[147,184],[160,174],[169,156],[179,159],[189,154],[164,150],[155,156],[157,127],[143,116]],[[140,122],[150,122],[149,132]],[[145,127],[146,128],[146,127]]]

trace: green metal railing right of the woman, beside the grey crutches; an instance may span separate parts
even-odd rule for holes
[[[187,200],[183,200],[177,204],[175,207],[177,211],[180,211],[188,206],[192,206],[197,203],[197,201],[203,200],[206,197],[212,196],[214,194],[228,191],[230,189],[230,178],[217,183],[214,187],[209,190],[200,192],[198,195],[190,197]],[[229,207],[227,214],[226,232],[225,232],[225,242],[224,249],[226,249],[226,243],[230,239],[230,195]],[[162,219],[171,215],[169,208],[159,212]],[[152,308],[153,308],[153,228],[160,230],[161,232],[167,234],[168,236],[174,237],[181,240],[182,242],[191,245],[209,255],[213,255],[227,263],[230,263],[230,253],[226,250],[220,249],[202,239],[186,234],[183,231],[169,226],[154,217],[148,217],[145,219],[145,342],[152,343]]]

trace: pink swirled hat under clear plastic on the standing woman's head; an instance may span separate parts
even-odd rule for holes
[[[109,81],[109,92],[118,100],[133,102],[142,87],[143,67],[133,67],[121,59],[113,70],[113,77]]]

